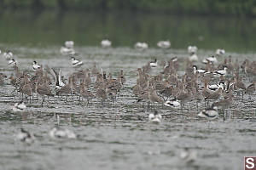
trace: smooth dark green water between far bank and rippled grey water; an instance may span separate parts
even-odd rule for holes
[[[3,11],[0,42],[51,46],[71,39],[79,46],[98,46],[104,38],[114,47],[133,47],[135,42],[169,39],[172,48],[225,48],[231,52],[255,51],[256,20],[167,14],[108,14],[58,11],[33,13]],[[1,47],[1,46],[0,46]]]

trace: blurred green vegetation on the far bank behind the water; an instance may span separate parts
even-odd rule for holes
[[[0,0],[0,8],[132,10],[256,16],[256,0]]]

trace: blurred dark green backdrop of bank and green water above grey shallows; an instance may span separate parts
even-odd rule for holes
[[[0,0],[0,43],[113,47],[170,40],[172,48],[252,52],[256,0]]]

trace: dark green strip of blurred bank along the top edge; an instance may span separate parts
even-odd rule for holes
[[[153,0],[152,0],[153,1]],[[53,1],[22,1],[9,2],[0,0],[0,10],[33,10],[43,12],[44,10],[53,10],[62,12],[72,11],[97,11],[99,13],[109,12],[130,12],[130,13],[147,13],[147,14],[177,14],[177,15],[197,15],[197,16],[231,16],[231,17],[255,17],[256,1],[248,0],[247,2],[209,2],[199,0],[191,3],[190,1],[173,1],[166,0],[164,3],[155,3],[148,0],[147,3],[137,1],[77,1],[67,2],[64,0]],[[142,3],[143,2],[143,3]]]

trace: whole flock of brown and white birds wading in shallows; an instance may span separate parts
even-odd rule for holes
[[[102,40],[102,48],[110,48],[112,42]],[[171,42],[161,41],[157,43],[160,48],[170,48]],[[135,48],[147,49],[146,42],[137,42]],[[231,56],[224,57],[224,49],[217,49],[216,54],[202,59],[201,62],[197,56],[198,48],[195,46],[188,47],[188,56],[185,59],[174,57],[166,61],[154,59],[148,61],[142,68],[137,68],[137,84],[132,87],[132,94],[136,97],[137,102],[148,103],[150,105],[165,105],[171,110],[183,110],[187,103],[196,105],[205,103],[205,108],[198,111],[198,116],[212,120],[218,117],[218,110],[230,108],[233,99],[238,98],[238,94],[252,95],[255,92],[255,82],[246,86],[243,82],[247,77],[256,76],[256,62],[244,59],[243,62],[234,61]],[[80,69],[84,65],[82,60],[76,59],[77,53],[74,49],[74,42],[65,42],[61,47],[60,53],[70,57],[70,63],[74,71],[67,77],[62,76],[61,70],[50,68],[48,65],[39,65],[37,61],[32,63],[32,71],[20,71],[17,61],[11,51],[7,51],[2,56],[8,60],[9,67],[14,72],[9,77],[10,84],[17,93],[22,94],[22,100],[13,107],[14,112],[26,111],[24,99],[31,100],[34,94],[42,98],[41,105],[44,105],[46,97],[65,96],[65,100],[70,95],[76,95],[87,100],[100,99],[102,105],[108,100],[114,102],[118,97],[121,89],[125,85],[125,74],[123,70],[119,71],[116,78],[112,73],[102,71],[96,67],[96,63],[90,69]],[[1,52],[0,52],[1,54]],[[219,62],[221,59],[223,61]],[[180,75],[181,63],[185,64],[184,74]],[[198,69],[198,65],[201,69]],[[160,68],[156,76],[150,73],[155,68]],[[157,71],[157,70],[155,70]],[[5,84],[7,76],[0,73],[0,83]],[[209,102],[211,105],[209,105]],[[162,116],[159,111],[154,109],[154,113],[148,115],[149,122],[161,122]],[[76,135],[67,129],[60,127],[53,128],[50,133],[53,138],[76,138]],[[26,130],[21,129],[19,139],[29,141],[33,135]]]

